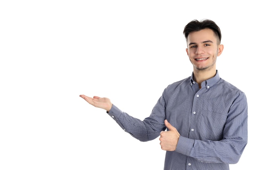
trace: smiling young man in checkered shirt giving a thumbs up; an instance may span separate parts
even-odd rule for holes
[[[229,170],[247,145],[246,96],[216,70],[224,48],[216,23],[193,20],[183,33],[193,73],[167,86],[143,121],[122,112],[106,97],[80,97],[107,110],[140,141],[160,135],[161,148],[166,150],[164,170]]]

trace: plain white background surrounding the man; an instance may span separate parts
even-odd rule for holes
[[[254,2],[0,1],[0,169],[162,170],[159,139],[140,142],[79,95],[147,117],[164,88],[193,71],[182,31],[222,31],[220,77],[247,95],[249,141],[231,170],[254,166]]]

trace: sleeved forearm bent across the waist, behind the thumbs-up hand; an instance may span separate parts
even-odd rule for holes
[[[247,141],[242,138],[200,141],[180,136],[176,152],[204,163],[237,163]]]

